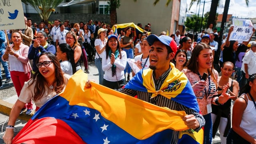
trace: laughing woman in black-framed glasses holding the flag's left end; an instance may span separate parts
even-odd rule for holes
[[[51,52],[42,53],[35,65],[38,71],[32,79],[24,84],[20,97],[10,112],[8,126],[3,136],[5,143],[11,144],[14,125],[24,105],[32,99],[36,104],[36,110],[38,110],[48,100],[62,92],[70,78],[69,75],[62,72],[60,62]]]

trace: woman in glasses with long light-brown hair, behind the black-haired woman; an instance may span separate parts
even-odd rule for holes
[[[76,64],[76,71],[82,69],[80,58],[82,55],[82,48],[80,47],[80,44],[78,43],[76,34],[72,31],[67,32],[66,34],[66,43],[70,45],[70,47],[74,50],[74,59]]]

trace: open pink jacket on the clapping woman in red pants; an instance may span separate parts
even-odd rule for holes
[[[13,47],[14,45],[11,44],[10,46]],[[17,58],[20,62],[23,63],[23,68],[24,68],[25,74],[27,74],[28,72],[30,72],[32,70],[32,68],[30,66],[29,59],[28,59],[28,49],[29,49],[29,47],[27,45],[20,44],[20,54],[21,55],[19,55]],[[6,62],[6,61],[8,61],[8,58],[6,60],[4,60],[4,58],[2,57],[2,60],[4,62]]]

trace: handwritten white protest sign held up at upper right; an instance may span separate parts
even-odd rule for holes
[[[230,34],[229,40],[236,40],[239,42],[248,42],[252,36],[252,21],[242,18],[233,18],[234,30]]]

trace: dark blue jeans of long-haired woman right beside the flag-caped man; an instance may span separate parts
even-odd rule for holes
[[[206,114],[203,117],[205,119],[204,144],[212,144],[212,116],[211,114]]]

